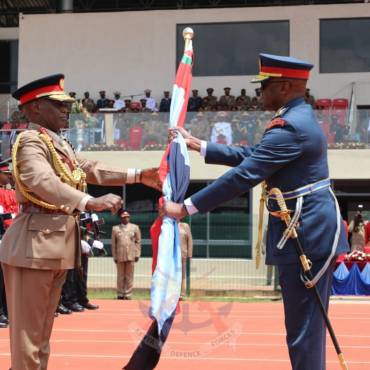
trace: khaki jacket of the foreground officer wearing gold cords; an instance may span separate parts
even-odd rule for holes
[[[63,211],[57,214],[19,213],[6,231],[0,246],[0,261],[36,269],[71,269],[78,263],[79,226],[72,215],[85,193],[63,183],[54,171],[50,152],[38,137],[40,126],[30,125],[22,134],[17,152],[22,183],[38,198]],[[64,153],[85,171],[87,182],[96,185],[123,185],[125,170],[110,169],[99,162],[79,158],[59,135],[47,130],[59,153]],[[16,185],[20,204],[28,202]]]

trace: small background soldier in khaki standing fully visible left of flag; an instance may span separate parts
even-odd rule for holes
[[[141,233],[122,210],[121,224],[112,228],[112,256],[117,266],[117,299],[131,299],[134,287],[134,264],[141,254]]]

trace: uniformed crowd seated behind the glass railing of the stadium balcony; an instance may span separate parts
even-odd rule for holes
[[[266,122],[272,112],[263,110],[260,88],[255,89],[254,96],[248,96],[246,89],[241,89],[235,97],[231,88],[225,87],[223,95],[214,95],[213,88],[206,89],[206,95],[192,90],[189,98],[186,127],[197,136],[212,142],[253,145],[261,139]],[[99,91],[96,101],[86,91],[83,98],[70,95],[76,99],[71,108],[71,141],[79,150],[155,150],[166,145],[168,112],[171,106],[169,91],[163,92],[157,102],[146,89],[140,96],[121,98],[120,92],[108,97],[106,91]],[[135,100],[134,100],[135,98]],[[358,148],[367,142],[367,127],[359,128],[355,135],[350,134],[348,125],[347,99],[318,99],[306,90],[305,100],[317,111],[317,117],[327,137],[329,147]],[[107,145],[102,140],[103,113],[113,112],[114,145]],[[125,114],[135,113],[135,114]],[[27,122],[20,111],[15,111],[10,122],[2,124],[3,130],[25,129]],[[86,132],[81,132],[82,129]]]

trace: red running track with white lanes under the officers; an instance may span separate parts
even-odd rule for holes
[[[119,370],[127,362],[149,324],[149,303],[94,303],[99,310],[56,318],[49,370]],[[332,302],[330,317],[350,370],[370,369],[370,302]],[[339,370],[330,338],[327,347],[327,370]],[[0,329],[0,369],[9,365],[8,330]],[[183,302],[157,369],[290,369],[282,303]]]

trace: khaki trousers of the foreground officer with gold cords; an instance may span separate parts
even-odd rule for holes
[[[12,370],[46,370],[54,313],[66,270],[2,265],[10,322]]]

